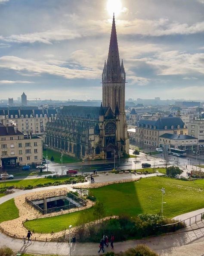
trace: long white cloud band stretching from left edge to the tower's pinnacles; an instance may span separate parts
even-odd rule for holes
[[[3,56],[0,58],[0,67],[5,69],[11,69],[16,71],[31,72],[33,74],[50,74],[61,76],[66,79],[74,78],[86,78],[96,79],[99,78],[101,70],[87,70],[87,69],[76,69],[69,67],[60,67],[56,64],[49,64],[46,61],[35,61],[32,59],[23,59],[16,56]]]

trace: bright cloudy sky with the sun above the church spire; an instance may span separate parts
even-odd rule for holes
[[[204,0],[0,0],[0,99],[102,99],[113,12],[126,99],[204,99]]]

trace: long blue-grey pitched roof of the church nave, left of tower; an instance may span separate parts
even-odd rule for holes
[[[108,107],[102,107],[104,113]],[[60,111],[60,115],[78,116],[83,118],[98,119],[101,107],[89,106],[64,106]]]

